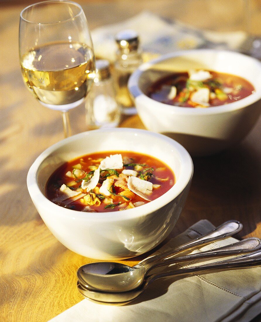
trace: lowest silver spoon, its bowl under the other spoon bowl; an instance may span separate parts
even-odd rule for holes
[[[210,264],[181,268],[150,275],[144,283],[137,289],[127,292],[103,292],[85,289],[81,284],[77,284],[79,292],[90,300],[101,304],[124,305],[141,295],[144,290],[156,279],[168,276],[190,275],[195,273],[210,273],[213,270],[233,270],[261,266],[261,251],[256,251],[247,255],[239,256],[230,260],[217,261]]]

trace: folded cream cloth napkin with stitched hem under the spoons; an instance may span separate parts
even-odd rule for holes
[[[209,221],[200,220],[156,253],[173,249],[213,228]],[[207,245],[200,251],[236,241],[229,237]],[[125,306],[101,305],[84,299],[50,322],[247,322],[259,313],[261,267],[256,267],[187,278],[159,279],[139,298]]]

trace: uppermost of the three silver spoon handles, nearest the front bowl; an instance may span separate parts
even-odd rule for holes
[[[135,265],[135,268],[144,267],[147,264],[150,265],[152,262],[161,261],[165,258],[176,255],[181,251],[189,250],[189,249],[196,247],[196,246],[203,246],[203,245],[209,244],[211,242],[215,242],[220,239],[227,238],[229,236],[236,234],[237,232],[240,232],[242,227],[243,227],[243,225],[240,222],[238,222],[237,220],[229,220],[229,221],[223,223],[222,225],[216,227],[212,231],[208,232],[207,234],[200,236],[196,239],[193,239],[192,241],[187,242],[179,247],[176,247],[172,251],[165,251],[161,254],[154,255],[152,257],[149,257],[145,260],[140,261],[137,265]]]

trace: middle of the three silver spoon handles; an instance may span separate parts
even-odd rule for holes
[[[160,262],[147,264],[146,266],[146,273],[159,266],[166,266],[175,263],[181,263],[184,261],[190,260],[200,260],[206,259],[210,257],[220,257],[220,256],[231,256],[231,255],[238,255],[244,253],[250,253],[253,251],[257,251],[261,248],[261,240],[256,237],[246,238],[240,242],[235,242],[233,244],[215,248],[209,251],[201,251],[199,253],[175,257],[175,258],[167,258]]]

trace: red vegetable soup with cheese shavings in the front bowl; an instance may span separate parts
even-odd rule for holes
[[[47,183],[46,196],[78,211],[120,211],[158,198],[174,183],[173,171],[152,156],[99,152],[60,166]]]

